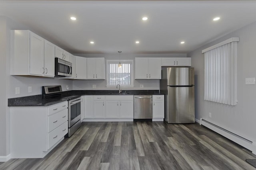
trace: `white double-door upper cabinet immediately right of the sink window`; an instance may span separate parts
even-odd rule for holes
[[[161,79],[161,58],[135,58],[135,79]]]

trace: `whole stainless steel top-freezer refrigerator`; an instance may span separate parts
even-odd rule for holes
[[[160,92],[167,123],[195,123],[194,68],[162,67]]]

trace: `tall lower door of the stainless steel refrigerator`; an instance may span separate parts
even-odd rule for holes
[[[168,87],[165,121],[167,123],[194,123],[194,86]]]

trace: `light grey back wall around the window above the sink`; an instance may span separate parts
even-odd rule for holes
[[[106,60],[119,60],[119,54],[75,54],[81,57],[104,57]],[[128,54],[121,53],[121,60],[134,60],[135,57],[186,57],[186,54]],[[134,73],[135,76],[135,73]],[[92,88],[95,84],[96,88]],[[144,88],[140,88],[143,84]],[[106,80],[74,80],[74,90],[115,90],[106,88]],[[134,88],[122,88],[122,90],[159,90],[159,80],[134,80]]]

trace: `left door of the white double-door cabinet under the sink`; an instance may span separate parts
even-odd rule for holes
[[[118,100],[107,100],[106,101],[106,118],[119,118],[119,107],[120,103]]]

